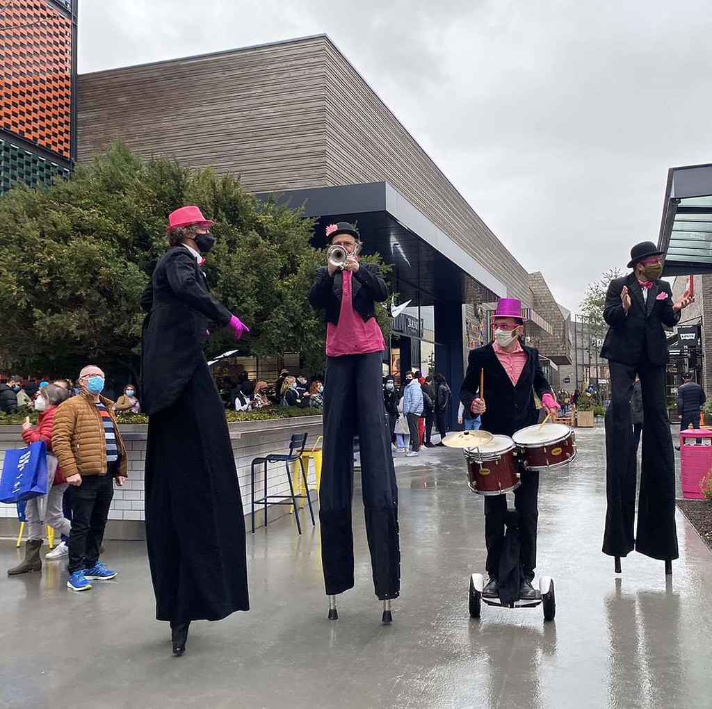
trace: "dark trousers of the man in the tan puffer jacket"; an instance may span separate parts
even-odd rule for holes
[[[72,530],[69,532],[69,573],[90,569],[99,560],[101,542],[114,497],[111,473],[82,476],[81,485],[70,485]]]

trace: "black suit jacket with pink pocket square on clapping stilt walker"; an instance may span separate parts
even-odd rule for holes
[[[628,286],[631,300],[627,314],[621,303],[624,285]],[[661,293],[666,293],[667,297],[658,300]],[[601,357],[621,364],[638,364],[645,354],[650,364],[667,364],[670,355],[663,325],[673,327],[680,320],[680,311],[672,309],[673,302],[670,284],[665,280],[653,283],[646,303],[634,273],[614,278],[608,286],[603,308],[609,328]]]

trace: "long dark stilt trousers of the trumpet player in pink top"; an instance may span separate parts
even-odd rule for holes
[[[354,585],[353,437],[359,436],[366,535],[379,599],[400,591],[398,488],[381,386],[382,352],[327,357],[319,488],[321,558],[328,595]]]

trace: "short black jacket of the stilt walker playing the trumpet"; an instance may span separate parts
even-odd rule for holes
[[[388,286],[375,263],[361,263],[358,273],[353,274],[351,283],[353,308],[367,322],[376,315],[376,303],[388,298]],[[332,278],[328,268],[322,266],[314,274],[314,282],[309,291],[312,307],[324,310],[326,322],[332,322],[334,325],[339,322],[342,285],[341,271],[336,271]]]

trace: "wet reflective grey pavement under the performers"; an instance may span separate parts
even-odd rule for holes
[[[115,581],[65,589],[65,564],[0,577],[0,706],[75,708],[705,708],[712,705],[712,555],[678,513],[681,558],[633,553],[623,573],[600,548],[602,426],[579,429],[570,468],[543,473],[537,574],[554,577],[557,615],[467,608],[483,571],[482,498],[461,451],[397,458],[402,597],[380,623],[355,495],[356,587],[328,621],[318,532],[283,518],[248,535],[252,610],[191,627],[173,658],[153,620],[145,547],[107,542]],[[0,540],[7,568],[17,552]],[[210,583],[211,579],[205,579]]]

